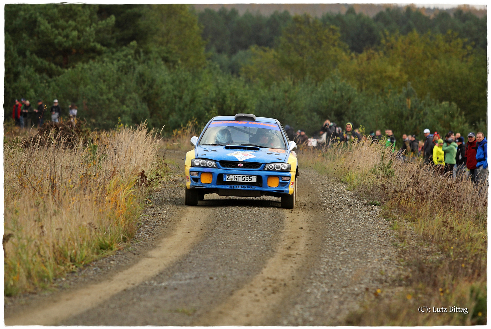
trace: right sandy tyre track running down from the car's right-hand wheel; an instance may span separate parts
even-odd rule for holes
[[[252,281],[193,325],[265,326],[275,322],[274,318],[279,315],[277,309],[292,291],[299,289],[309,256],[315,256],[320,242],[320,235],[314,234],[317,232],[314,220],[319,213],[316,204],[312,203],[313,188],[302,179],[300,183],[299,201],[294,210],[286,212],[285,226],[274,256]]]

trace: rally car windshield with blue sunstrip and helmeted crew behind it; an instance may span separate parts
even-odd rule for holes
[[[212,121],[199,145],[247,145],[286,150],[278,125],[259,121]]]

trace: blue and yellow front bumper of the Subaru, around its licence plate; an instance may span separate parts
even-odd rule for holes
[[[203,194],[217,193],[218,195],[224,196],[246,197],[261,197],[263,195],[271,195],[275,197],[281,197],[285,194],[292,194],[295,184],[295,172],[246,169],[212,169],[190,166],[185,166],[185,172],[186,187],[201,189],[203,191]],[[197,175],[191,176],[191,172],[197,173]],[[210,173],[212,175],[210,183],[204,183],[201,181],[201,175],[203,173]],[[257,180],[255,183],[223,181],[224,174],[252,175],[257,176]],[[268,186],[269,177],[277,177],[278,186]],[[282,180],[283,177],[288,177],[288,180]],[[207,181],[207,179],[203,180]]]

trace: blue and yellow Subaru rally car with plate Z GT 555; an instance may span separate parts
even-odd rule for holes
[[[281,198],[293,209],[297,196],[297,144],[278,120],[252,114],[215,117],[186,154],[185,204],[196,206],[208,193]]]

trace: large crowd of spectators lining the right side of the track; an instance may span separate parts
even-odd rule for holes
[[[449,131],[444,137],[430,129],[423,130],[424,139],[418,140],[415,135],[402,135],[402,146],[396,148],[396,139],[391,129],[371,131],[368,135],[354,129],[351,122],[347,122],[344,129],[338,127],[330,120],[324,121],[317,136],[309,138],[305,131],[295,132],[289,125],[285,131],[290,140],[297,144],[323,148],[333,143],[358,143],[368,141],[371,143],[383,143],[390,148],[397,157],[403,161],[423,160],[425,165],[432,166],[436,173],[456,177],[470,177],[475,182],[486,182],[488,179],[488,142],[483,132],[469,132],[467,143],[460,133]]]

